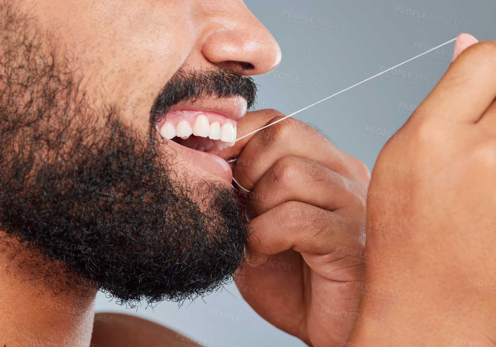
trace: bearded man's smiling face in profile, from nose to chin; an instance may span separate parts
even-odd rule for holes
[[[208,151],[236,138],[246,76],[280,61],[267,30],[241,1],[1,8],[2,230],[122,301],[228,280],[247,227]]]

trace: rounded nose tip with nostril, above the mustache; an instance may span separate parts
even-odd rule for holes
[[[281,62],[281,49],[270,32],[250,13],[250,23],[209,34],[202,54],[210,62],[243,75],[260,75]]]

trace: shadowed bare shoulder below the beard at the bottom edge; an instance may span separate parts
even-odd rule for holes
[[[201,347],[152,321],[120,313],[96,313],[91,347]]]

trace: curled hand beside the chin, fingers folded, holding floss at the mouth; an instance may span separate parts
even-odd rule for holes
[[[241,135],[281,118],[249,113]],[[270,120],[269,120],[270,119]],[[242,142],[243,141],[243,142]],[[309,125],[293,118],[239,141],[233,169],[252,234],[236,283],[263,318],[310,346],[346,341],[361,295],[365,198],[370,173]]]

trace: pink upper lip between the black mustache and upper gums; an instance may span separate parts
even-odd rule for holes
[[[217,112],[236,121],[241,120],[247,113],[247,100],[241,96],[231,98],[217,98],[214,96],[196,99],[194,101],[180,101],[172,105],[168,111],[198,110]]]

